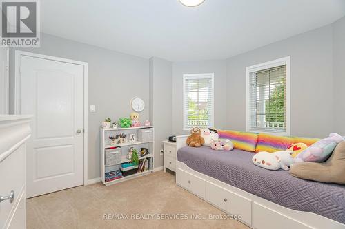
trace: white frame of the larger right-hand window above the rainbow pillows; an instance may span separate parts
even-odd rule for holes
[[[250,130],[250,88],[249,80],[250,73],[257,72],[259,70],[270,69],[272,67],[278,67],[281,65],[286,65],[286,131],[278,132],[271,130],[260,130],[263,133],[270,133],[273,135],[290,135],[290,56],[283,58],[278,58],[273,61],[267,61],[265,63],[259,63],[257,65],[252,65],[246,67],[246,131],[257,133],[257,131]]]

